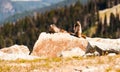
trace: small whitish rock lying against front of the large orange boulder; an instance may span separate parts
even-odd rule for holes
[[[69,51],[62,51],[58,57],[74,57],[74,56],[83,56],[85,54],[85,51],[83,51],[81,48],[72,48]]]

